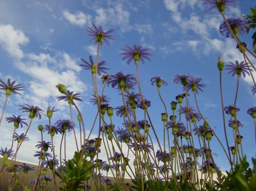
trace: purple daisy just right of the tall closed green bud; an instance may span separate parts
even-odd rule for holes
[[[227,74],[232,73],[232,76],[235,76],[235,74],[237,74],[239,77],[241,77],[241,75],[243,74],[244,78],[246,73],[250,76],[250,73],[248,72],[249,70],[253,72],[252,69],[249,69],[247,67],[248,63],[245,63],[244,61],[241,61],[240,63],[236,60],[235,63],[232,62],[228,62],[230,64],[228,64],[227,66],[225,66],[224,70],[230,70]],[[249,66],[251,67],[251,66]]]

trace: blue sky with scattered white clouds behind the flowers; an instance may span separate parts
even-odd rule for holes
[[[240,17],[242,13],[248,14],[249,7],[253,6],[253,1],[240,1],[235,8],[230,8],[226,12],[227,18]],[[111,41],[110,46],[104,44],[100,48],[99,61],[106,60],[109,63],[109,74],[120,70],[136,74],[135,65],[127,65],[118,55],[124,45],[141,44],[152,49],[150,53],[154,57],[151,58],[151,62],[140,63],[139,70],[142,92],[152,101],[149,113],[160,138],[163,134],[161,113],[164,112],[164,107],[158,97],[157,87],[151,86],[150,78],[161,76],[169,83],[168,86],[161,87],[161,94],[168,112],[171,113],[170,102],[176,101],[175,97],[183,93],[182,86],[173,83],[174,76],[192,73],[195,77],[202,77],[201,82],[207,85],[204,92],[199,92],[197,96],[200,110],[209,119],[211,127],[216,127],[215,133],[224,146],[226,145],[217,58],[221,55],[227,64],[229,61],[242,61],[242,55],[236,49],[235,40],[225,38],[219,33],[219,25],[222,23],[220,14],[217,11],[204,13],[207,6],[203,6],[201,0],[138,0],[136,3],[126,0],[6,0],[0,2],[0,7],[0,77],[2,80],[17,80],[24,84],[26,89],[22,96],[10,96],[4,117],[21,114],[17,106],[28,103],[37,105],[45,111],[48,105],[60,109],[54,113],[53,121],[69,119],[68,103],[56,99],[60,93],[55,84],[63,83],[69,90],[81,93],[83,102],[78,105],[87,130],[91,128],[92,119],[97,111],[95,105],[89,102],[93,94],[91,75],[90,71],[83,70],[79,64],[82,64],[80,58],[89,60],[89,55],[96,60],[96,46],[89,42],[90,37],[86,36],[85,30],[86,26],[92,27],[92,22],[95,22],[106,30],[115,29],[111,35],[116,36],[117,40]],[[250,49],[252,48],[251,33],[245,34],[241,39],[248,43]],[[255,62],[255,59],[251,58],[251,61]],[[225,106],[234,103],[236,79],[223,71]],[[101,90],[103,86],[100,80],[98,82]],[[251,86],[253,82],[250,77],[241,78],[237,101],[237,106],[240,107],[238,120],[244,124],[240,129],[241,135],[244,136],[242,144],[249,158],[255,157],[254,123],[246,113],[248,108],[255,106],[256,103],[250,92]],[[104,94],[112,98],[112,107],[122,104],[121,96],[115,89],[108,87]],[[4,99],[4,96],[0,98],[1,105]],[[192,92],[189,101],[195,107]],[[77,112],[73,110],[73,113],[76,119]],[[143,112],[139,109],[137,115],[139,120],[143,119]],[[229,116],[225,117],[228,121]],[[115,116],[113,123],[116,127],[121,127],[122,119]],[[21,147],[18,159],[37,162],[32,155],[36,150],[36,141],[40,141],[38,124],[47,124],[47,120],[34,121],[28,133],[30,141]],[[96,129],[93,132],[94,136],[97,134]],[[230,145],[233,145],[231,128],[227,129]],[[3,133],[0,134],[0,147],[10,148],[12,125],[3,120],[1,131]],[[25,128],[19,128],[17,132],[24,131]],[[57,143],[60,141],[60,137],[55,139]],[[50,140],[47,134],[45,140]],[[72,157],[75,150],[73,133],[68,136],[68,142],[68,155]],[[219,154],[215,162],[225,170],[228,161],[216,138],[213,138],[211,145],[213,152]]]

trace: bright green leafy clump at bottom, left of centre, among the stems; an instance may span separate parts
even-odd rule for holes
[[[85,156],[79,163],[81,154],[82,151],[75,152],[73,159],[66,163],[66,169],[62,169],[61,174],[55,171],[55,174],[62,180],[61,182],[65,184],[60,190],[83,190],[85,188],[83,182],[91,178],[90,170],[94,168],[94,165],[87,161]]]

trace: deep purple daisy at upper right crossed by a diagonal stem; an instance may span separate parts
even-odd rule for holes
[[[230,28],[232,29],[233,33],[237,36],[238,33],[240,35],[243,35],[245,31],[247,31],[247,28],[249,28],[249,24],[246,23],[246,20],[240,19],[240,18],[230,18],[227,19],[228,24],[230,25]],[[230,35],[230,30],[226,24],[226,22],[224,21],[222,24],[220,24],[220,33],[221,35],[224,36],[224,33],[226,32],[226,37],[229,37]],[[231,34],[231,37],[233,37],[233,35]]]

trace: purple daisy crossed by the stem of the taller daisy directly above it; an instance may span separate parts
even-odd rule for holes
[[[81,67],[85,67],[85,70],[91,70],[91,73],[92,74],[95,74],[96,73],[96,64],[94,64],[93,60],[92,60],[92,56],[89,56],[89,60],[90,60],[90,63],[87,62],[85,59],[82,59],[81,60],[86,64],[80,64],[79,66]],[[103,73],[107,73],[105,70],[109,70],[110,68],[106,68],[106,67],[103,67],[104,65],[106,65],[106,61],[103,60],[101,62],[98,63],[98,68],[97,68],[97,74],[98,76],[100,76],[100,72],[103,72]]]

